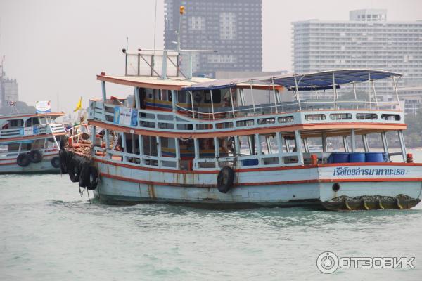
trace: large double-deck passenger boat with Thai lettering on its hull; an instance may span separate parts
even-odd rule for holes
[[[101,202],[332,210],[420,202],[422,164],[407,155],[394,89],[400,74],[330,70],[212,80],[182,76],[177,61],[170,51],[126,53],[124,76],[97,76],[103,98],[89,101],[91,150],[68,148],[61,159],[73,181]],[[378,79],[392,81],[397,100],[378,101]],[[108,83],[132,88],[134,97],[108,96]],[[366,100],[357,98],[360,83],[370,86]],[[338,98],[343,86],[351,100]],[[390,135],[399,152],[388,148]],[[378,138],[383,152],[372,150],[369,138]],[[335,139],[343,152],[333,152]]]

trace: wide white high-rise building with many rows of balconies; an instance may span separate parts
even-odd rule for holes
[[[293,68],[389,70],[404,74],[400,86],[421,85],[422,21],[392,22],[386,10],[366,9],[350,11],[347,21],[293,22]],[[391,83],[377,86],[385,101]]]

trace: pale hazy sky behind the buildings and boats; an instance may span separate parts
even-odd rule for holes
[[[210,0],[212,1],[212,0]],[[163,0],[158,0],[156,47],[163,46]],[[386,8],[388,20],[422,20],[421,0],[262,0],[264,70],[291,70],[291,22],[347,20],[349,11]],[[101,97],[96,74],[124,74],[121,49],[152,48],[155,0],[0,0],[0,56],[18,79],[20,100],[51,100],[60,111],[79,96]],[[129,91],[108,86],[113,96]]]

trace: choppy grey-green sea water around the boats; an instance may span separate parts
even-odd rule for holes
[[[422,153],[414,152],[422,161]],[[67,175],[0,175],[0,280],[421,280],[422,204],[411,210],[210,211],[89,203]],[[415,268],[339,268],[414,257]]]

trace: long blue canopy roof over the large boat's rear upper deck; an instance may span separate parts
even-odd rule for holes
[[[268,84],[269,82],[284,86],[289,90],[295,89],[295,80],[298,83],[298,90],[322,90],[332,89],[333,84],[335,88],[339,88],[340,84],[359,83],[370,80],[385,79],[389,77],[401,77],[402,74],[395,72],[388,72],[383,70],[328,70],[322,72],[313,72],[306,74],[286,74],[267,77],[252,77],[252,78],[236,78],[236,79],[222,79],[208,81],[205,83],[193,84],[185,86],[186,91],[204,90],[204,89],[224,89],[233,88],[238,84],[253,83],[253,84]],[[333,83],[334,81],[334,83]]]

